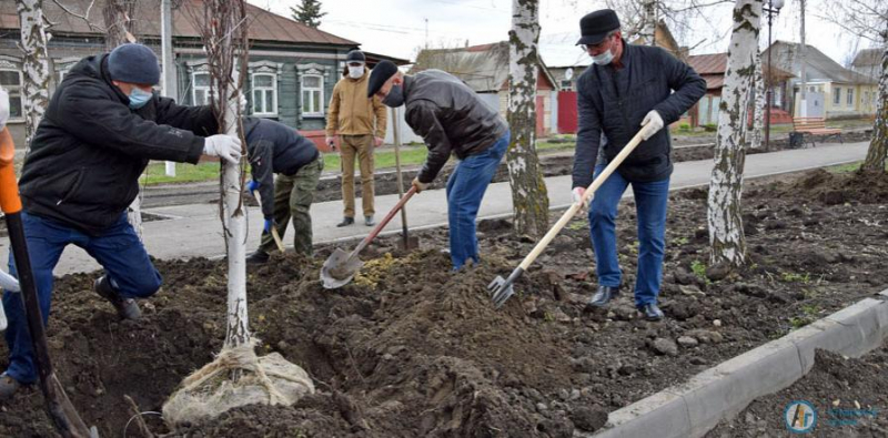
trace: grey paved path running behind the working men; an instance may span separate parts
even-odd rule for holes
[[[767,154],[754,154],[746,157],[746,177],[773,175],[778,173],[795,172],[813,167],[821,167],[860,161],[866,156],[869,143],[846,144],[818,144],[815,149],[789,150]],[[676,163],[672,177],[672,189],[683,189],[695,185],[708,184],[713,161],[693,161]],[[554,176],[546,179],[549,203],[553,208],[564,207],[571,203],[571,176]],[[632,191],[627,191],[630,194]],[[376,197],[376,218],[382,218],[385,213],[397,202],[396,195]],[[218,207],[214,204],[178,205],[168,207],[149,208],[147,212],[170,217],[167,221],[148,222],[144,224],[145,246],[151,255],[158,258],[188,258],[194,256],[220,256],[224,254],[225,246],[222,241],[222,226],[219,221]],[[447,204],[443,190],[423,192],[407,204],[408,222],[411,228],[427,228],[447,223]],[[508,183],[491,184],[484,196],[478,217],[506,216],[512,213],[512,194]],[[250,234],[248,238],[248,253],[258,246],[262,215],[259,208],[250,208]],[[342,218],[342,202],[332,201],[312,205],[315,243],[335,242],[340,240],[362,238],[370,228],[362,223],[337,228],[336,223]],[[401,215],[396,215],[385,232],[396,233],[401,230]],[[289,241],[284,236],[284,242]],[[287,245],[287,246],[292,246]],[[0,254],[6,261],[9,241],[0,240]],[[69,246],[59,265],[56,275],[75,272],[91,272],[100,266],[82,249]],[[6,269],[4,269],[6,271]]]

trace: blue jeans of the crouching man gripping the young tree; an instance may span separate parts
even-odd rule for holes
[[[127,214],[99,236],[87,235],[57,221],[21,214],[28,255],[31,258],[43,325],[47,325],[52,299],[52,269],[62,251],[74,244],[89,253],[104,267],[111,285],[124,298],[144,298],[160,288],[161,276],[148,257],[145,247],[127,222]],[[9,253],[9,273],[17,276],[12,251]],[[22,384],[37,381],[37,365],[31,350],[24,305],[19,293],[3,293],[3,308],[9,319],[6,339],[9,346],[7,374]]]

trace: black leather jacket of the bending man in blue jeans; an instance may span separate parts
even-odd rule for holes
[[[451,152],[462,160],[485,151],[508,131],[505,120],[457,78],[425,70],[404,78],[405,119],[428,156],[418,179],[431,183]]]

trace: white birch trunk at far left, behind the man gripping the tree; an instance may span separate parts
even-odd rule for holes
[[[31,150],[37,125],[43,120],[49,105],[49,54],[47,52],[43,0],[18,0],[16,7],[21,22],[22,93],[24,112],[24,153]]]

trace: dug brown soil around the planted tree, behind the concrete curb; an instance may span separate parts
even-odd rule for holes
[[[134,323],[119,322],[91,291],[98,273],[62,277],[49,345],[69,396],[103,437],[142,436],[124,396],[154,434],[175,437],[569,437],[888,287],[887,203],[884,175],[811,171],[747,183],[748,263],[729,273],[706,266],[706,191],[674,193],[659,323],[633,306],[632,201],[617,230],[623,292],[605,310],[586,307],[596,278],[585,217],[568,224],[500,310],[487,284],[534,245],[505,220],[480,224],[482,264],[456,273],[441,252],[446,230],[417,233],[423,248],[410,254],[396,249],[397,237],[377,241],[362,274],[336,291],[319,281],[332,247],[313,259],[274,255],[249,269],[251,329],[260,354],[304,367],[317,393],[178,430],[153,412],[220,350],[224,262],[159,261],[163,289],[141,302]],[[42,401],[27,388],[0,404],[0,436],[52,436]]]

